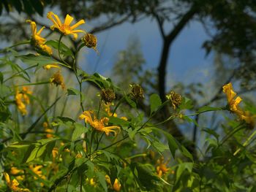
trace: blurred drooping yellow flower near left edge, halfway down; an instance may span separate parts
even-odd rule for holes
[[[23,87],[22,91],[16,91],[15,94],[15,103],[18,107],[18,110],[22,115],[27,114],[26,104],[30,103],[29,96],[27,94],[31,94],[32,91],[29,91],[28,87]]]

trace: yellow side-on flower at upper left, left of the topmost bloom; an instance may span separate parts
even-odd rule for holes
[[[45,45],[46,39],[40,36],[45,26],[43,26],[42,28],[39,29],[39,31],[37,31],[37,24],[34,21],[26,20],[26,22],[30,23],[31,25],[31,44],[38,47],[39,50],[48,53],[48,55],[52,55],[53,51],[51,50],[51,48],[48,45]]]

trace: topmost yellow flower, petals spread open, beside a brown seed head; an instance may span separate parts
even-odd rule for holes
[[[53,18],[54,17],[54,18]],[[61,23],[61,20],[59,19],[58,15],[55,15],[53,12],[48,12],[47,18],[50,19],[53,22],[53,26],[50,26],[51,30],[54,30],[54,28],[58,28],[61,34],[68,35],[72,34],[74,39],[78,38],[77,33],[86,33],[86,31],[83,30],[75,30],[78,26],[82,25],[83,23],[86,23],[84,20],[78,21],[78,23],[75,23],[73,26],[70,26],[72,23],[72,18],[70,15],[67,14],[64,23]]]

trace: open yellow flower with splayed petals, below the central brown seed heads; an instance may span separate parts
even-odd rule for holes
[[[91,117],[91,115],[93,115],[93,117]],[[79,119],[84,119],[86,123],[89,123],[97,131],[105,132],[107,136],[110,132],[113,132],[116,136],[116,131],[113,129],[118,129],[120,131],[120,127],[118,126],[105,126],[105,124],[108,124],[109,119],[101,118],[98,120],[92,111],[84,111],[83,114],[79,116]]]

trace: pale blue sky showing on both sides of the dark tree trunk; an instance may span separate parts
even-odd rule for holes
[[[89,25],[89,22],[87,23]],[[145,19],[139,23],[124,23],[97,34],[99,55],[93,50],[86,50],[86,70],[92,72],[99,60],[97,72],[109,74],[119,50],[127,47],[130,37],[140,39],[141,49],[146,59],[147,67],[157,68],[162,49],[162,38],[157,23]],[[202,48],[203,42],[208,39],[203,26],[192,21],[181,31],[173,42],[167,66],[167,82],[191,81],[202,82],[208,77],[213,63],[213,56],[206,57]],[[167,84],[167,86],[169,86]]]

